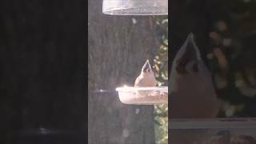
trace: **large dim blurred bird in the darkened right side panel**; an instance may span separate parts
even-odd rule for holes
[[[170,118],[214,118],[219,102],[194,34],[178,50],[170,72]]]

